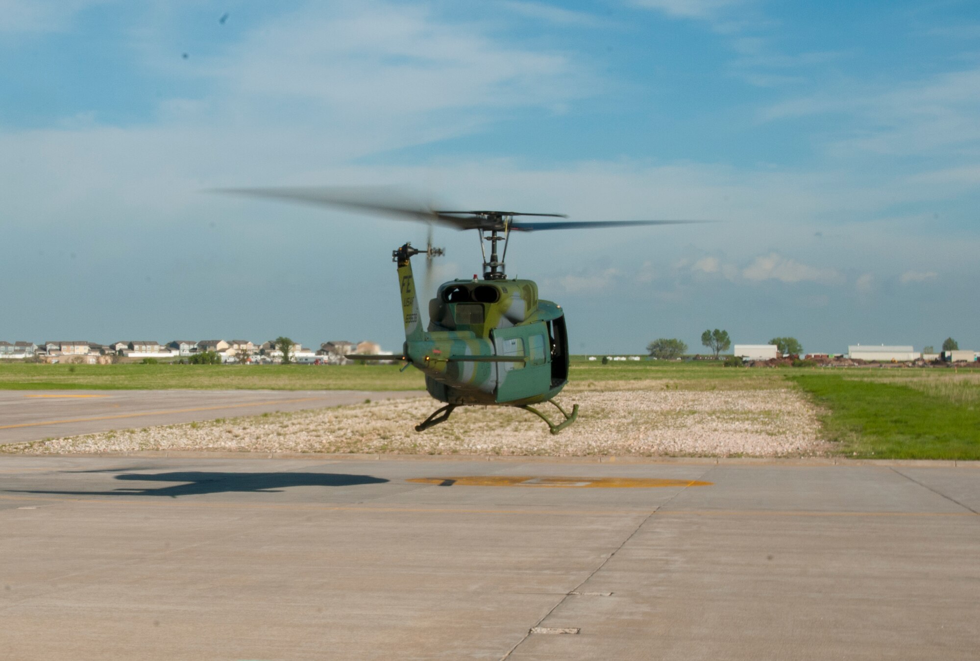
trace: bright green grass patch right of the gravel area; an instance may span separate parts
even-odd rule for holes
[[[825,410],[823,432],[828,440],[840,443],[841,454],[980,459],[976,403],[957,401],[945,394],[941,383],[922,389],[902,382],[868,381],[870,371],[861,372],[788,375]]]

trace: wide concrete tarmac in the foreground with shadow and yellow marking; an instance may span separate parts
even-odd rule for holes
[[[22,661],[980,649],[975,467],[11,456],[0,486]]]

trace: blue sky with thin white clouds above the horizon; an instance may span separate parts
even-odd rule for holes
[[[576,351],[980,348],[976,3],[0,0],[0,90],[9,340],[396,349],[423,228],[200,191],[398,184],[721,221],[519,236]],[[437,241],[437,279],[478,270]]]

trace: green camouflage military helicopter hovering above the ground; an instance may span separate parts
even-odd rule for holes
[[[515,233],[554,229],[624,228],[683,225],[708,221],[586,221],[564,214],[514,211],[450,211],[371,199],[363,189],[329,187],[221,188],[216,192],[344,207],[429,226],[425,249],[406,242],[392,251],[398,271],[405,325],[402,371],[415,367],[425,375],[425,389],[444,405],[416,426],[416,432],[446,422],[460,406],[511,406],[543,420],[552,433],[562,432],[578,417],[578,404],[566,411],[555,397],[568,382],[568,333],[561,305],[538,296],[534,280],[509,279],[505,261]],[[432,245],[432,226],[475,230],[483,259],[482,278],[443,282],[428,302],[425,329],[418,304],[412,258],[424,255],[431,266],[445,255]],[[489,244],[489,256],[487,255]],[[500,244],[503,244],[502,246]],[[426,270],[426,274],[428,269]],[[359,361],[390,361],[392,356],[349,354]],[[564,420],[553,423],[535,404],[551,402]]]

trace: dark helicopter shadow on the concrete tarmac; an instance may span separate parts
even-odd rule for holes
[[[102,471],[78,471],[77,473],[101,473]],[[73,471],[72,473],[76,473]],[[116,480],[133,482],[180,483],[168,486],[121,486],[111,491],[55,491],[20,490],[19,493],[51,493],[59,495],[139,495],[179,496],[206,493],[254,492],[280,493],[290,486],[354,486],[389,482],[369,475],[344,473],[220,473],[205,471],[177,471],[173,473],[122,473]]]

